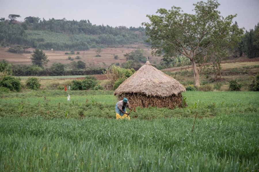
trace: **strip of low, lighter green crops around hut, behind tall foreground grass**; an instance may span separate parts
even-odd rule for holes
[[[3,93],[0,99],[0,116],[40,116],[44,118],[102,117],[115,118],[114,106],[117,102],[113,91],[70,91],[61,90],[29,91],[23,93]],[[257,112],[258,92],[202,92],[187,91],[188,107],[170,110],[167,108],[137,108],[132,118],[154,119],[171,117],[200,118],[221,114]]]

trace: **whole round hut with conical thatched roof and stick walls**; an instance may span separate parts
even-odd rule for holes
[[[147,61],[136,73],[115,90],[119,99],[127,97],[131,106],[180,107],[182,91],[186,91],[176,79],[159,71]]]

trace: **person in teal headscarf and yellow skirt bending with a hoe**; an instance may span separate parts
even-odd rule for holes
[[[115,105],[115,112],[116,112],[116,119],[123,119],[123,118],[129,118],[129,113],[126,111],[126,107],[132,110],[132,108],[129,106],[129,102],[127,98],[123,98],[123,100],[120,100]]]

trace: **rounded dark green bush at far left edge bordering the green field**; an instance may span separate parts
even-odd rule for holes
[[[20,85],[21,85],[20,80],[12,76],[3,76],[0,81],[1,87],[6,87],[11,91],[13,90],[20,91]]]

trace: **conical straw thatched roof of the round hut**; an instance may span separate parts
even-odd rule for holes
[[[147,61],[137,72],[115,90],[114,95],[143,93],[147,96],[167,97],[186,91],[173,77],[166,75]]]

